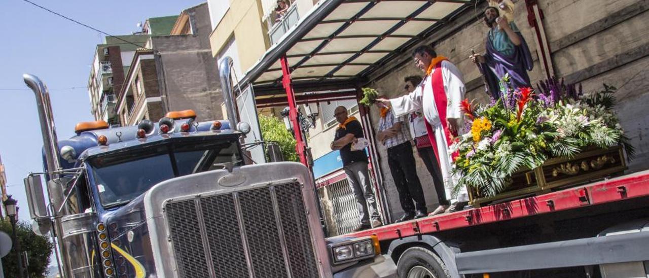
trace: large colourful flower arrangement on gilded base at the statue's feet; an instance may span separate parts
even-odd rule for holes
[[[615,88],[581,91],[551,79],[537,91],[504,91],[489,105],[465,99],[467,130],[451,146],[459,151],[456,190],[467,186],[479,205],[504,192],[530,194],[626,169],[620,146],[629,158],[633,147],[613,112]]]

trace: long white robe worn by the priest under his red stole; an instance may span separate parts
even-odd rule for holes
[[[444,81],[444,90],[448,99],[447,118],[461,119],[463,118],[463,113],[460,110],[459,104],[462,99],[464,99],[464,94],[466,92],[462,73],[454,64],[447,60],[441,62],[440,69]],[[435,142],[431,143],[437,145],[437,151],[439,153],[439,169],[442,171],[447,200],[451,203],[456,201],[469,201],[469,195],[467,194],[466,188],[462,188],[457,195],[452,194],[453,188],[458,181],[458,177],[454,177],[450,174],[452,154],[448,151],[447,138],[441,120],[439,119],[439,114],[437,113],[437,107],[435,106],[435,97],[433,95],[432,86],[432,75],[434,72],[435,71],[433,70],[430,75],[424,77],[424,80],[413,92],[396,99],[390,99],[390,103],[395,117],[415,112],[419,109],[423,110],[424,118],[426,118],[426,121],[430,123],[435,131]],[[444,119],[444,121],[446,121],[446,119]],[[460,128],[458,133],[461,132]]]

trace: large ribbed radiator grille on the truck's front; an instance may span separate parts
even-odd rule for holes
[[[318,277],[300,184],[165,203],[180,277]]]

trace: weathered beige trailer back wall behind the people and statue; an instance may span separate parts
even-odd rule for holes
[[[524,1],[515,2],[515,23],[526,39],[532,52],[534,69],[530,72],[533,84],[545,79],[539,64],[537,42],[533,27],[528,24]],[[487,27],[482,19],[476,20],[475,12],[482,12],[485,3],[470,8],[442,31],[433,34],[422,44],[432,44],[438,55],[448,57],[463,72],[467,84],[467,97],[484,103],[488,97],[480,73],[469,60],[471,49],[484,53]],[[539,0],[545,18],[546,36],[552,51],[555,75],[569,82],[581,82],[586,92],[599,90],[602,83],[617,86],[618,116],[622,126],[637,149],[637,158],[630,164],[631,170],[644,170],[649,162],[649,114],[644,112],[644,101],[649,101],[649,20],[648,0]],[[408,75],[422,75],[415,68],[408,49],[392,65],[369,78],[366,86],[376,88],[389,97],[402,94],[403,79]],[[378,110],[371,108],[374,129],[378,126]],[[384,185],[390,200],[393,216],[401,214],[398,195],[389,168],[386,149],[378,147],[385,173]],[[436,201],[432,179],[413,149],[417,170],[424,186],[426,202],[434,207]]]

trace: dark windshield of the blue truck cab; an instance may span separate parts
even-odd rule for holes
[[[236,141],[184,142],[123,151],[90,160],[93,179],[104,207],[128,203],[157,183],[173,177],[241,163]]]

